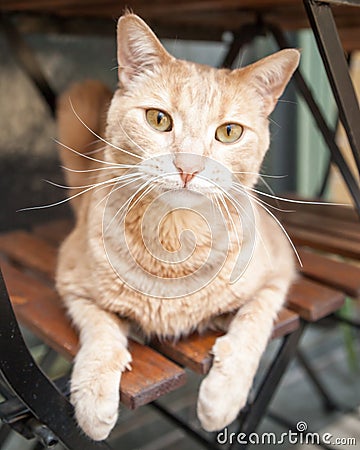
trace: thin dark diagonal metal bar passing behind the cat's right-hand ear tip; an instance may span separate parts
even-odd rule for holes
[[[280,30],[279,27],[273,24],[267,24],[269,31],[273,34],[275,40],[277,41],[280,48],[289,48],[290,45],[287,42],[284,33]],[[355,180],[352,172],[350,171],[339,147],[335,142],[335,134],[334,131],[330,129],[328,124],[326,123],[324,116],[316,103],[314,96],[308,87],[306,81],[304,80],[299,69],[294,73],[294,81],[296,86],[304,98],[305,102],[308,105],[309,110],[311,111],[314,120],[321,132],[327,146],[329,147],[332,160],[334,164],[336,164],[346,182],[346,185],[349,189],[349,192],[354,200],[356,209],[358,214],[360,215],[360,188],[359,184]]]

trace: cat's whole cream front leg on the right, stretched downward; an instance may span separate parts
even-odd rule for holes
[[[212,368],[200,386],[197,413],[207,431],[221,430],[245,406],[260,358],[287,290],[284,280],[261,289],[213,346]]]

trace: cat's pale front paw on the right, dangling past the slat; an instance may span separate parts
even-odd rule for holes
[[[245,406],[252,377],[241,367],[239,351],[229,336],[216,340],[213,366],[200,386],[197,415],[206,431],[218,431],[236,419]]]

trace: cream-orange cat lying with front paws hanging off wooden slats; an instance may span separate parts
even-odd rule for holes
[[[117,49],[114,95],[86,81],[58,104],[76,218],[56,274],[80,337],[71,402],[83,431],[105,439],[130,329],[179,338],[222,327],[197,402],[202,427],[220,430],[246,403],[295,276],[291,245],[252,188],[299,51],[215,69],[174,58],[131,13]]]

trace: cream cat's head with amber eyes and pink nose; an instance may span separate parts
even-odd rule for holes
[[[269,147],[268,116],[298,63],[294,49],[235,70],[179,60],[126,14],[118,23],[107,158],[139,164],[165,190],[226,188],[231,173],[251,187]]]

